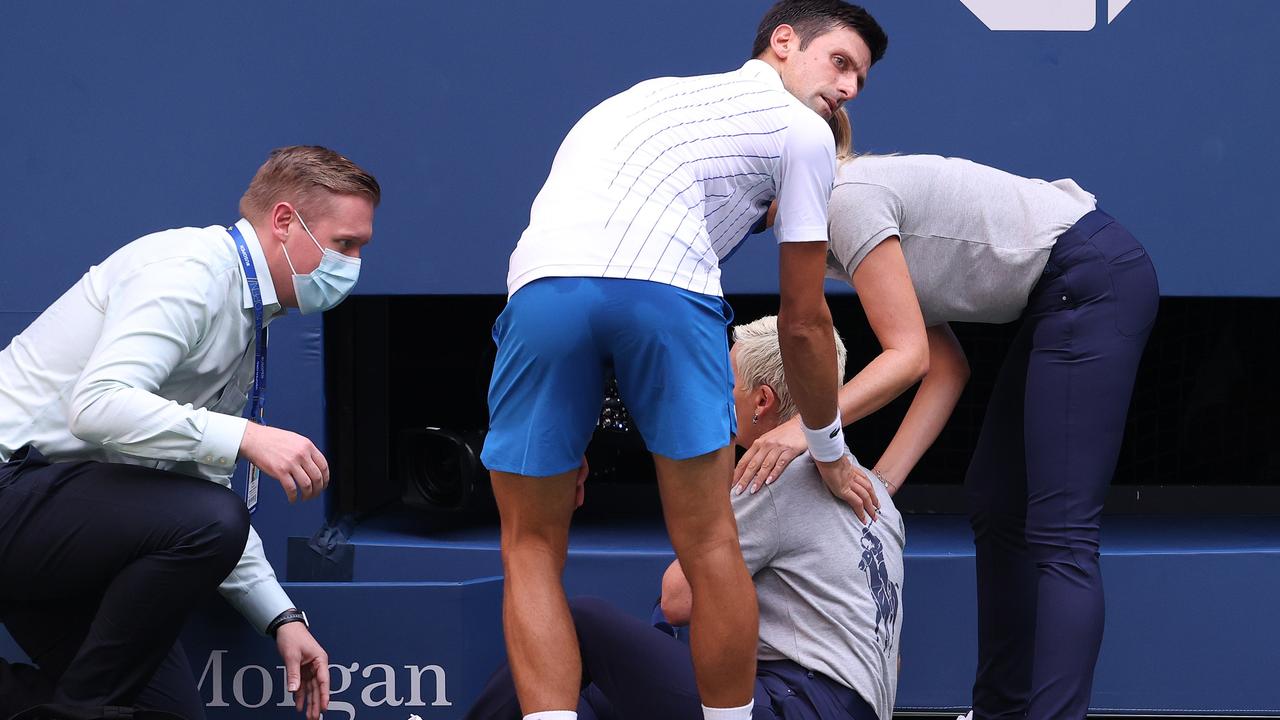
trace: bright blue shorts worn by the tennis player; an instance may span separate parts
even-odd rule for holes
[[[650,452],[685,460],[737,432],[722,297],[622,278],[541,278],[493,327],[490,470],[545,477],[577,468],[609,375]]]

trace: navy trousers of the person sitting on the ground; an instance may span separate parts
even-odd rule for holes
[[[687,644],[603,600],[575,598],[570,611],[582,652],[579,720],[703,720]],[[503,665],[466,720],[521,717],[511,669]],[[758,664],[751,719],[877,720],[858,693],[788,661]]]

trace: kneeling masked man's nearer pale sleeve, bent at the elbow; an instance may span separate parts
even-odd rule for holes
[[[205,337],[210,313],[239,311],[219,282],[198,259],[169,258],[108,288],[101,337],[72,391],[76,437],[138,457],[234,466],[243,418],[156,395]]]

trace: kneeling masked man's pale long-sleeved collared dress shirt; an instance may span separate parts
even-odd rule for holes
[[[266,318],[283,314],[248,220]],[[230,487],[253,382],[253,301],[227,228],[179,228],[111,254],[0,351],[0,461],[143,465]],[[219,592],[260,632],[293,602],[250,528]]]

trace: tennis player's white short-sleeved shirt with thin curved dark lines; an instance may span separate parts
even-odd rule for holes
[[[778,242],[826,242],[831,128],[763,60],[641,82],[570,131],[511,256],[544,277],[630,278],[722,295],[719,263],[778,200]]]

